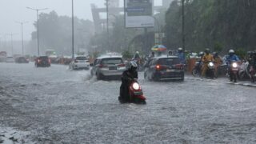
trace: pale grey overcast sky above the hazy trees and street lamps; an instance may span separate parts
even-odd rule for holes
[[[161,0],[155,0],[156,5],[161,4]],[[78,18],[92,20],[90,4],[104,6],[104,0],[74,0],[74,15]],[[122,4],[120,0],[120,5]],[[10,39],[4,34],[14,33],[14,40],[21,39],[21,26],[18,22],[28,22],[24,24],[24,39],[30,40],[31,32],[35,30],[33,23],[36,21],[36,11],[26,9],[26,6],[32,8],[48,8],[43,10],[49,13],[54,10],[58,15],[71,15],[71,0],[0,0],[0,38],[2,41]]]

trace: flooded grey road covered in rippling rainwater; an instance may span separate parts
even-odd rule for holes
[[[0,143],[15,142],[10,131],[17,143],[256,142],[256,89],[226,78],[148,82],[140,73],[141,106],[120,104],[121,82],[90,71],[32,63],[0,70]]]

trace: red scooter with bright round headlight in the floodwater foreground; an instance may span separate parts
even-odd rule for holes
[[[131,103],[146,104],[146,97],[143,95],[142,86],[138,84],[136,79],[133,79],[130,82],[129,96],[129,100]],[[119,102],[123,103],[120,97],[118,98],[118,100]]]

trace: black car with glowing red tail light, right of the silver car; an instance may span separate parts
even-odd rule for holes
[[[144,78],[154,81],[184,80],[184,65],[177,56],[153,58],[144,71]]]

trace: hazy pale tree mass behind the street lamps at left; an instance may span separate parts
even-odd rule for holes
[[[37,22],[34,22],[37,29]],[[90,36],[93,34],[93,22],[74,18],[74,51],[85,49],[89,44]],[[39,15],[40,53],[44,54],[47,49],[54,49],[57,54],[71,55],[72,26],[71,18],[58,16],[55,11],[49,14]],[[32,41],[37,40],[37,30],[32,33]],[[31,49],[34,50],[34,44]]]

